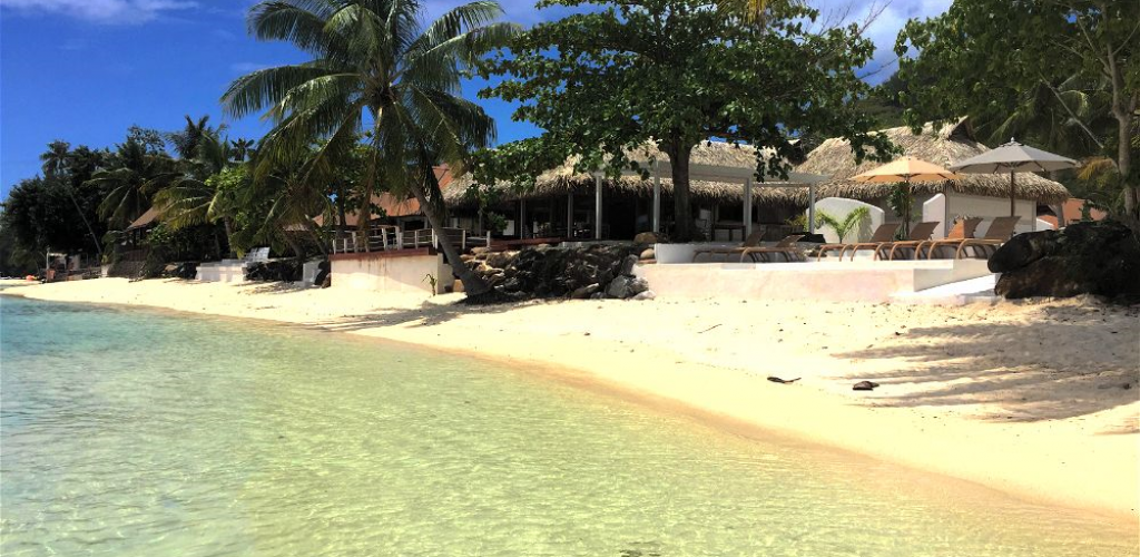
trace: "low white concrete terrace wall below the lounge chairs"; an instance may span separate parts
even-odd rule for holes
[[[660,298],[809,299],[883,302],[990,275],[980,259],[699,263],[636,269]]]

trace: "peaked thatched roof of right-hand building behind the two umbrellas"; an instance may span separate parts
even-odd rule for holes
[[[923,128],[921,135],[913,135],[910,128],[890,128],[880,130],[903,154],[922,159],[942,167],[990,151],[974,139],[969,123],[963,119],[958,123],[942,127],[935,131],[930,124]],[[850,178],[857,173],[871,170],[882,163],[864,161],[855,164],[850,144],[845,139],[828,139],[807,154],[807,160],[796,168],[800,172],[831,176],[832,179],[816,187],[816,197],[848,197],[862,201],[876,201],[885,197],[889,185],[862,184]],[[943,187],[971,195],[991,197],[1009,197],[1009,175],[962,175],[956,181],[915,183],[912,189],[919,194],[940,193]],[[807,204],[807,191],[798,192],[803,204]],[[1021,172],[1017,175],[1017,197],[1040,200],[1045,203],[1059,203],[1069,197],[1065,186],[1037,175]]]

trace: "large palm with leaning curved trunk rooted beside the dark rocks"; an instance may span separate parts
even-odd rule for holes
[[[319,168],[366,136],[361,203],[369,202],[378,179],[414,195],[447,260],[475,296],[489,286],[446,240],[446,207],[432,167],[458,168],[471,150],[494,142],[494,122],[461,96],[461,79],[519,27],[496,23],[503,10],[490,0],[459,6],[426,26],[422,9],[417,0],[262,1],[250,10],[250,32],[290,41],[314,59],[244,75],[222,104],[234,116],[266,111],[275,122],[259,146],[264,162],[259,176],[317,143],[310,164]],[[368,208],[360,211],[367,215]]]

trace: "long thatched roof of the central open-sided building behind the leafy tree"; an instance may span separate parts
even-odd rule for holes
[[[646,146],[634,151],[630,153],[630,158],[643,166],[654,159],[658,161],[669,160],[669,156],[656,146]],[[576,162],[575,158],[570,158],[557,168],[543,172],[538,179],[535,180],[535,187],[527,192],[514,192],[508,187],[510,185],[500,184],[500,187],[504,187],[507,191],[507,194],[504,197],[507,200],[534,200],[551,196],[564,196],[571,192],[579,194],[593,193],[594,177],[587,172],[575,172],[573,166]],[[728,143],[715,142],[710,144],[708,142],[703,142],[697,147],[693,147],[690,163],[728,167],[733,169],[755,169],[756,150],[750,145],[738,146]],[[652,177],[645,180],[637,176],[622,176],[617,180],[605,178],[603,179],[603,184],[605,186],[606,194],[617,193],[619,195],[638,197],[651,197],[653,195]],[[448,204],[470,204],[471,200],[466,199],[465,194],[472,185],[473,180],[471,175],[456,178],[455,185],[445,191],[445,197]],[[690,192],[698,201],[741,203],[744,199],[744,186],[739,181],[691,180]],[[804,189],[804,192],[807,192],[807,189]],[[671,178],[667,178],[665,176],[661,177],[661,193],[666,196],[673,194]],[[797,202],[796,195],[797,188],[795,187],[752,188],[752,199],[757,203],[795,204]]]

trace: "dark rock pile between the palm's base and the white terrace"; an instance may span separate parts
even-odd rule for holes
[[[646,244],[585,248],[537,247],[521,251],[475,250],[465,261],[495,289],[518,298],[652,298],[649,284],[633,276]]]

